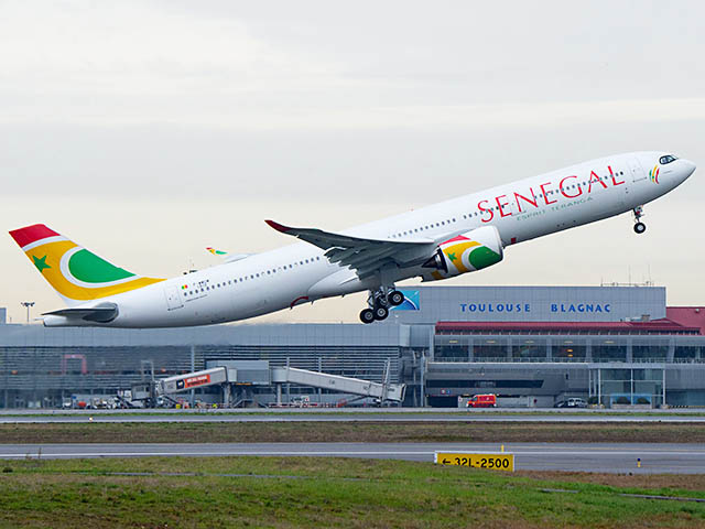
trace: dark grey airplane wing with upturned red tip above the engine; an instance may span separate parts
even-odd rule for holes
[[[366,239],[316,228],[292,228],[274,220],[264,222],[282,234],[325,250],[328,261],[354,269],[360,279],[372,276],[388,264],[400,268],[419,264],[425,261],[436,247],[433,239]]]

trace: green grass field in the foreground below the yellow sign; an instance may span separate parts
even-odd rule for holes
[[[0,462],[0,527],[705,526],[703,476],[492,474],[430,463],[209,457]]]

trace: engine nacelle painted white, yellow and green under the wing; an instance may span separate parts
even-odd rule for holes
[[[423,274],[424,281],[454,278],[498,263],[505,257],[499,231],[495,226],[466,231],[438,245],[423,268],[433,271]]]

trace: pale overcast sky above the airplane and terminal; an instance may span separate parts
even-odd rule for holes
[[[701,1],[0,1],[3,231],[44,223],[128,270],[341,229],[592,158],[701,169],[646,208],[438,284],[651,278],[705,304]],[[8,236],[0,306],[62,306]],[[365,296],[259,321],[357,321]]]

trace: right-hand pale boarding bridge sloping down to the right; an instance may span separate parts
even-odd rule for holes
[[[384,378],[387,379],[387,377]],[[300,386],[329,389],[340,393],[369,397],[381,401],[392,400],[395,402],[404,400],[404,390],[406,389],[406,386],[403,384],[370,382],[369,380],[359,378],[308,371],[306,369],[296,369],[295,367],[273,367],[272,384],[276,385],[278,402],[281,402],[282,384],[297,384]]]

